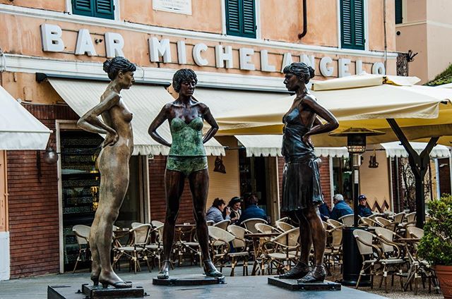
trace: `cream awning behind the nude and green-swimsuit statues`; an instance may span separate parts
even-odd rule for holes
[[[100,96],[107,87],[105,82],[88,80],[49,78],[49,82],[79,116],[85,114],[99,102]],[[121,96],[124,99],[124,104],[133,113],[133,155],[167,155],[169,147],[160,145],[150,138],[148,128],[162,107],[168,102],[174,101],[171,94],[164,87],[133,85],[130,90],[121,91]],[[162,138],[171,142],[171,133],[167,122],[160,126],[157,131]],[[206,142],[206,153],[220,156],[220,154],[225,155],[225,150],[217,140],[212,138]]]

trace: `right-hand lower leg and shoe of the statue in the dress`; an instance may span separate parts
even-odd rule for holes
[[[307,219],[309,230],[311,231],[312,243],[314,245],[315,264],[307,276],[304,276],[299,282],[310,283],[323,281],[326,276],[325,267],[323,266],[323,253],[326,245],[326,232],[323,229],[322,221],[317,214],[316,205],[308,205],[303,209],[304,218]]]

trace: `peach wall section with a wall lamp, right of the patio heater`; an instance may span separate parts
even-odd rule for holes
[[[366,195],[367,203],[370,207],[374,205],[374,202],[378,202],[378,205],[382,207],[385,200],[389,207],[392,207],[386,152],[376,151],[376,161],[379,163],[378,168],[369,168],[371,154],[374,154],[374,152],[365,152],[362,155],[364,160],[359,168],[359,192]]]

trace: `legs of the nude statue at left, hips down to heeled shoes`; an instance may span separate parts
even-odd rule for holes
[[[95,231],[101,265],[99,282],[104,287],[111,285],[115,288],[128,288],[131,285],[125,283],[114,273],[110,262],[110,252],[112,249],[113,224],[118,217],[119,209],[129,186],[129,149],[124,151],[121,147],[111,147],[108,153],[106,154],[104,150],[99,164],[103,187],[99,190],[99,206],[96,212],[98,222]]]

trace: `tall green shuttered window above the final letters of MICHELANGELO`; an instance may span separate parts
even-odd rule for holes
[[[364,50],[364,0],[340,0],[341,45]]]

